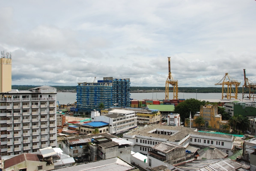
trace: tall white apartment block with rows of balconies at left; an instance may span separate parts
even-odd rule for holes
[[[50,86],[0,92],[1,156],[56,147],[56,92]]]

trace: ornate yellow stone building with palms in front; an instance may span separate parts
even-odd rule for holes
[[[194,123],[194,120],[201,116],[205,125],[201,125],[201,127],[210,127],[217,130],[222,130],[223,125],[228,124],[228,121],[222,121],[222,116],[218,114],[218,106],[205,104],[204,106],[200,106],[200,113],[194,115],[194,118],[191,119],[191,127],[198,127],[197,124]],[[185,123],[185,127],[189,127],[190,123]]]

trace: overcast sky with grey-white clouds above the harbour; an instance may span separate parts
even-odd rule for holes
[[[0,51],[12,85],[77,85],[103,77],[214,87],[225,73],[256,83],[255,0],[5,0]],[[220,86],[220,85],[219,85]]]

